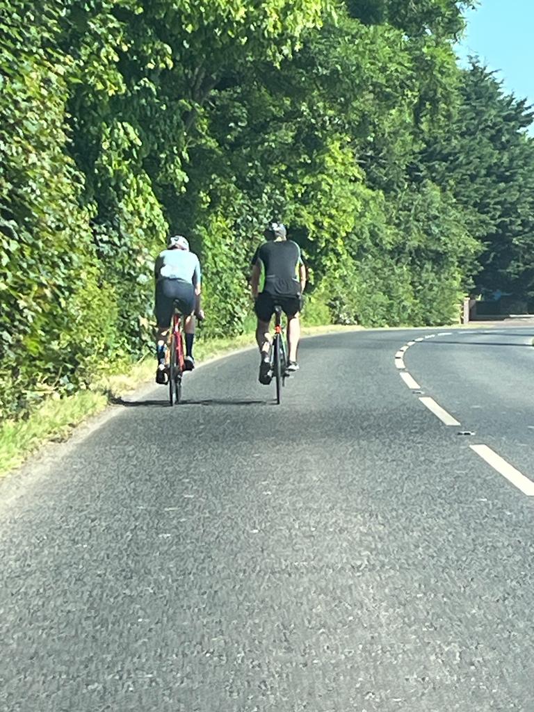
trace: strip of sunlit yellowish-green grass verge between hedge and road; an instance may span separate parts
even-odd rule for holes
[[[304,327],[303,335],[351,329],[355,327]],[[199,340],[195,345],[195,358],[197,362],[202,362],[253,343],[253,333],[227,339]],[[76,426],[102,412],[115,399],[150,382],[154,369],[154,360],[147,357],[120,375],[100,377],[88,390],[58,400],[47,400],[27,419],[1,423],[0,477],[21,466],[43,445],[68,439]]]

